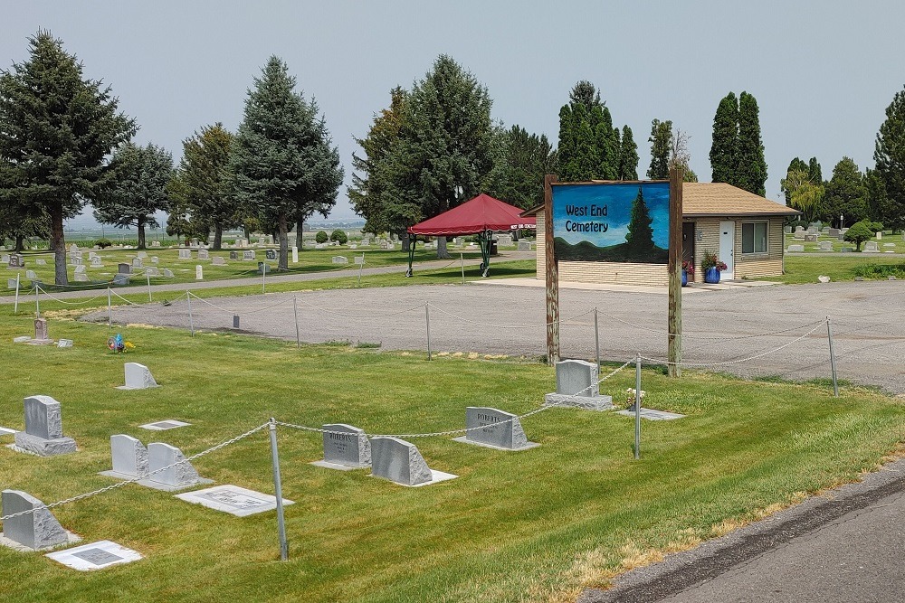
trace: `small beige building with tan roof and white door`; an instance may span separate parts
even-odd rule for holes
[[[702,282],[700,262],[711,251],[726,263],[722,279],[776,277],[783,274],[786,218],[800,214],[754,193],[724,183],[682,184],[682,257],[694,259],[694,280]],[[523,216],[538,224],[538,278],[545,278],[544,207]],[[560,261],[559,279],[585,283],[665,287],[665,264]]]

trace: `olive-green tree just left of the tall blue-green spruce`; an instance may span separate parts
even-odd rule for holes
[[[222,249],[224,230],[241,223],[241,207],[232,190],[230,157],[234,138],[217,122],[202,127],[182,143],[181,201],[192,216],[190,221],[214,230],[214,250]]]

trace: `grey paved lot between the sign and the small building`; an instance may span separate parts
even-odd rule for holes
[[[831,316],[840,379],[905,393],[905,281],[733,288],[683,296],[685,362],[742,376],[828,378],[826,326]],[[231,328],[295,338],[297,297],[303,342],[379,343],[385,349],[426,350],[424,305],[430,304],[434,352],[546,353],[543,287],[481,285],[350,288],[193,299],[195,328]],[[593,358],[594,308],[601,357],[635,353],[665,357],[666,297],[662,293],[564,288],[560,291],[562,354]],[[106,321],[106,311],[90,317]],[[114,309],[114,321],[188,328],[186,301]],[[783,347],[785,346],[785,347]],[[776,348],[782,348],[774,352]]]

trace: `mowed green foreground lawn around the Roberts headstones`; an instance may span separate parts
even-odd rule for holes
[[[106,325],[52,319],[71,349],[10,343],[30,317],[0,316],[0,425],[22,429],[24,396],[62,402],[80,451],[40,458],[0,448],[0,485],[43,502],[110,485],[110,435],[165,441],[194,454],[269,417],[377,433],[463,427],[466,406],[525,412],[554,389],[539,363],[436,358],[342,346],[303,346],[233,334],[125,327],[137,347],[105,346]],[[119,391],[123,363],[147,364],[162,386]],[[605,369],[606,372],[606,369]],[[631,369],[602,384],[624,399]],[[145,559],[78,572],[41,553],[0,548],[0,589],[11,601],[568,601],[585,586],[656,551],[693,545],[730,526],[850,481],[898,448],[902,401],[825,385],[743,382],[645,370],[647,405],[686,413],[643,423],[555,409],[524,419],[539,448],[504,452],[412,439],[434,469],[459,476],[405,488],[311,466],[318,434],[281,428],[290,561],[279,561],[275,512],[237,518],[128,485],[54,510],[84,542],[112,540]],[[138,425],[193,425],[149,432]],[[2,438],[8,443],[12,438]],[[216,484],[273,493],[266,430],[195,462]],[[653,551],[653,552],[652,552]]]

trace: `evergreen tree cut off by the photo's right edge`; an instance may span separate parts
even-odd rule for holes
[[[873,151],[881,192],[873,205],[887,228],[905,227],[905,90],[900,90],[886,108],[886,120],[877,133]]]

